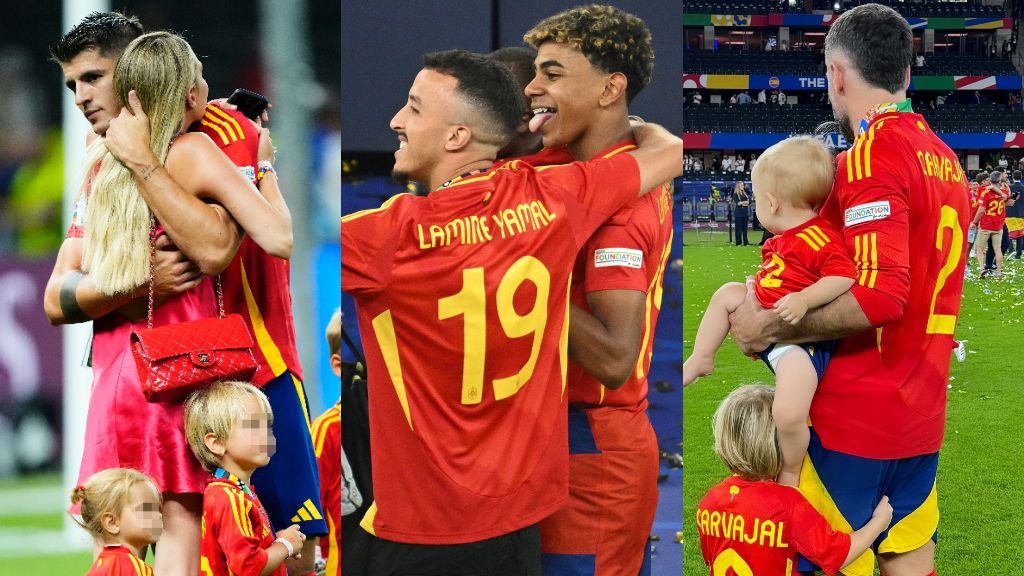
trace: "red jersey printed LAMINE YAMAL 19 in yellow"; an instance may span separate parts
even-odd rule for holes
[[[371,374],[365,529],[463,543],[562,505],[572,262],[639,192],[628,154],[513,160],[342,218],[342,290]]]

